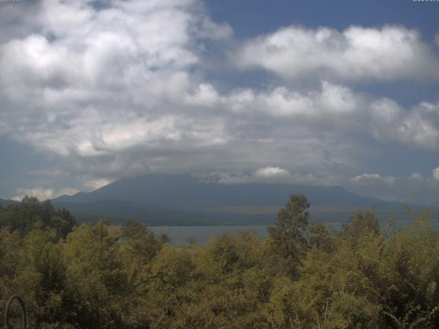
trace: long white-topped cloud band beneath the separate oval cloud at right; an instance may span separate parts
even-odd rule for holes
[[[439,149],[439,103],[423,101],[403,108],[392,99],[355,93],[351,88],[325,81],[320,90],[306,92],[285,86],[259,93],[234,90],[222,101],[237,114],[289,120],[291,125],[305,125],[311,130],[361,132],[377,141],[428,151]]]

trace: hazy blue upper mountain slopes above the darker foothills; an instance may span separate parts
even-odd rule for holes
[[[289,195],[303,193],[313,205],[356,204],[395,206],[372,197],[359,197],[339,186],[295,186],[290,184],[217,184],[198,182],[184,175],[144,175],[122,178],[97,190],[72,196],[63,195],[53,202],[96,202],[121,200],[171,208],[285,204]]]

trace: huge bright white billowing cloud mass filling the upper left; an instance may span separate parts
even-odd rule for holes
[[[206,127],[206,119],[182,113],[181,99],[204,106],[215,97],[191,75],[203,40],[232,33],[200,8],[198,1],[113,1],[101,10],[88,1],[42,1],[40,32],[1,45],[0,134],[62,156],[222,143],[211,136],[222,133],[220,122]]]

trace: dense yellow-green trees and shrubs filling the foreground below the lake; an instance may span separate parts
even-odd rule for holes
[[[428,209],[399,230],[359,211],[337,232],[308,210],[292,195],[264,239],[176,247],[26,197],[0,206],[0,310],[16,293],[29,328],[439,328]]]

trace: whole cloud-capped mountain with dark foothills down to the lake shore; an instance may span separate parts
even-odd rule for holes
[[[69,209],[80,221],[136,219],[150,226],[267,224],[289,195],[302,193],[313,219],[345,221],[358,208],[374,208],[381,219],[407,219],[399,202],[360,197],[340,186],[217,184],[185,175],[122,178],[89,193],[62,195],[54,206]],[[414,210],[420,208],[414,206]]]

